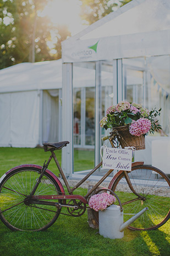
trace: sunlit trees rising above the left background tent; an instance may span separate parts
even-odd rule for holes
[[[21,62],[61,58],[61,41],[70,35],[67,28],[54,28],[40,12],[49,0],[0,0],[0,69]],[[56,53],[48,41],[56,33]]]

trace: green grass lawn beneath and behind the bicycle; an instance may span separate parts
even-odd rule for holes
[[[61,162],[61,153],[59,161]],[[42,165],[49,153],[41,148],[0,148],[0,177],[8,169],[24,163]],[[6,159],[5,159],[6,158]],[[55,164],[49,167],[56,173]],[[77,193],[86,194],[79,188]],[[150,256],[170,255],[170,221],[155,231],[124,231],[122,239],[103,238],[89,227],[87,212],[75,218],[60,215],[47,231],[13,232],[0,221],[2,256]]]

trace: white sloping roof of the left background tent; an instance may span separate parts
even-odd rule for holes
[[[0,93],[62,88],[61,60],[20,63],[0,70]]]

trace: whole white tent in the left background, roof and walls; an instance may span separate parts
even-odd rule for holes
[[[50,138],[49,132],[56,139],[60,88],[61,60],[0,70],[0,146],[35,147]]]

